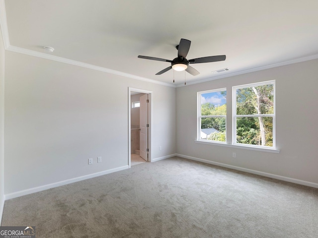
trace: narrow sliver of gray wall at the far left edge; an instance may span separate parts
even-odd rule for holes
[[[4,46],[0,30],[0,224],[4,205]]]

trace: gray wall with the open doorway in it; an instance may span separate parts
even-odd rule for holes
[[[13,52],[5,85],[5,194],[128,166],[128,87],[153,91],[152,158],[176,152],[175,88]]]

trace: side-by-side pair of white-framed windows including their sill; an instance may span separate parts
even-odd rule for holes
[[[275,148],[275,80],[232,89],[232,99],[227,98],[226,88],[198,92],[196,142],[279,153]],[[232,100],[228,101],[233,106],[232,113],[228,111],[231,115],[227,115],[227,100]]]

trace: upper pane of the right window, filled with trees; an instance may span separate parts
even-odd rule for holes
[[[237,115],[273,113],[273,84],[237,89]]]

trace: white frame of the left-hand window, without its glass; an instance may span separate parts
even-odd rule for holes
[[[219,89],[213,89],[213,90],[206,90],[198,92],[198,118],[197,118],[197,139],[198,141],[207,142],[207,143],[220,143],[220,144],[226,144],[227,143],[227,115],[211,115],[211,116],[201,116],[201,95],[206,93],[215,93],[215,92],[221,92],[226,91],[226,88],[219,88]],[[228,93],[228,92],[227,92]],[[228,107],[228,106],[227,106]],[[201,119],[202,118],[225,118],[225,141],[217,141],[217,140],[204,140],[201,139]]]

